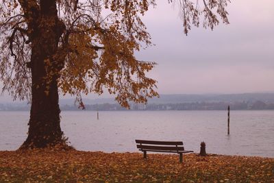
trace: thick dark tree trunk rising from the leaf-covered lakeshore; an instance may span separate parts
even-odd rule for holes
[[[37,17],[36,17],[37,18]],[[58,20],[55,1],[41,0],[36,24],[32,23],[32,107],[29,131],[21,149],[65,145],[60,127],[58,77],[62,63],[55,59],[64,24]]]

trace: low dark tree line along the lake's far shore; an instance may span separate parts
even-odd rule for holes
[[[247,102],[189,102],[189,103],[149,103],[136,104],[130,103],[131,110],[227,110],[227,106],[230,106],[232,110],[274,110],[274,103],[266,103],[263,101]],[[62,110],[81,110],[77,106],[61,105]],[[119,103],[101,103],[101,104],[88,104],[85,105],[86,110],[127,110],[121,107]],[[27,105],[12,105],[1,104],[0,110],[29,110]]]

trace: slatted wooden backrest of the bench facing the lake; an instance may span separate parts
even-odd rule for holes
[[[135,140],[138,149],[150,149],[155,151],[184,151],[182,141],[145,141]]]

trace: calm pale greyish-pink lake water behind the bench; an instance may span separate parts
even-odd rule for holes
[[[61,127],[83,151],[135,152],[135,139],[183,141],[199,152],[274,158],[274,110],[64,111]],[[29,112],[0,112],[0,150],[15,150],[27,137]]]

